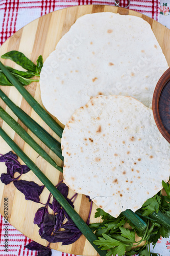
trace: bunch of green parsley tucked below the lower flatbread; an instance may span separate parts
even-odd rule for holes
[[[167,238],[170,234],[170,185],[162,181],[162,186],[165,196],[159,191],[135,212],[142,221],[147,223],[144,230],[138,229],[123,214],[114,218],[104,210],[97,209],[95,218],[102,217],[103,222],[90,224],[90,228],[98,237],[94,244],[102,250],[108,250],[106,256],[159,255],[150,251],[150,244],[155,246],[160,237]],[[127,228],[127,224],[130,227]]]

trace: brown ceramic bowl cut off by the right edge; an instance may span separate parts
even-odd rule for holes
[[[152,101],[156,125],[170,143],[170,68],[159,79]]]

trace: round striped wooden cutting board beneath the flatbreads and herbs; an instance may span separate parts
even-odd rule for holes
[[[87,13],[95,12],[113,12],[123,15],[134,15],[147,20],[150,23],[152,30],[166,56],[168,65],[170,66],[170,30],[162,26],[155,20],[128,9],[103,6],[103,5],[86,5],[86,6],[76,6],[59,11],[46,14],[36,20],[34,20],[29,25],[23,27],[13,36],[11,36],[0,48],[0,56],[11,50],[18,50],[24,53],[28,58],[36,63],[36,59],[39,55],[43,56],[43,60],[55,50],[57,42],[60,38],[69,30],[70,26],[75,23],[76,19]],[[10,60],[1,59],[5,65],[12,66],[13,68],[18,68]],[[40,98],[39,83],[33,82],[26,87],[27,90],[35,97],[35,99],[42,105]],[[13,87],[2,87],[1,89],[9,96],[9,98],[20,108],[29,114],[33,119],[35,119],[41,126],[44,127],[53,136],[54,133],[50,128],[37,116],[37,114],[31,109],[29,104],[21,97],[17,90]],[[11,110],[6,106],[6,104],[0,100],[0,105],[4,108],[15,120],[18,120]],[[20,121],[18,121],[20,123]],[[44,174],[50,179],[54,185],[56,185],[61,179],[62,174],[57,171],[53,166],[48,164],[45,160],[38,156],[34,150],[28,146],[13,130],[0,119],[0,124],[3,129],[8,133],[8,135],[20,146],[20,148],[35,162],[35,164],[44,172]],[[21,124],[21,123],[20,123]],[[21,124],[22,125],[22,124]],[[23,126],[23,125],[22,125]],[[23,126],[25,127],[25,126]],[[61,165],[62,162],[59,160],[53,152],[49,151],[48,148],[42,144],[30,131],[28,133],[52,156],[52,158]],[[57,136],[55,136],[57,138]],[[57,138],[58,139],[58,138]],[[10,147],[7,143],[0,137],[0,153],[5,154],[10,151]],[[23,164],[23,163],[22,163]],[[0,163],[0,175],[1,173],[6,173],[6,166],[4,163]],[[23,180],[35,181],[41,184],[38,178],[32,173],[22,175]],[[49,192],[44,189],[41,194],[41,202],[45,203],[48,198]],[[72,191],[69,191],[69,198],[74,195]],[[48,242],[42,240],[38,233],[38,226],[33,224],[34,215],[36,210],[41,207],[41,204],[34,203],[32,201],[26,201],[23,194],[21,194],[11,183],[9,185],[0,185],[0,213],[4,216],[4,198],[8,198],[8,221],[20,232],[31,238],[32,240],[47,245]],[[75,209],[79,215],[86,221],[89,214],[90,203],[85,196],[79,195],[75,201]],[[90,222],[98,222],[98,219],[94,219],[96,206],[93,204],[92,214]],[[72,254],[79,255],[97,255],[94,248],[85,239],[84,236],[72,245],[62,246],[61,243],[51,244],[51,248],[64,251]]]

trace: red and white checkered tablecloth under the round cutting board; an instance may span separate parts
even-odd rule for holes
[[[103,4],[115,5],[114,0],[0,0],[0,46],[8,37],[32,20],[49,12],[77,5]],[[121,7],[127,6],[127,0],[120,0]],[[170,0],[131,0],[129,9],[141,12],[170,28]],[[1,153],[1,152],[0,152]],[[4,250],[5,228],[8,225],[8,252]],[[0,256],[36,256],[36,251],[30,251],[24,246],[31,240],[17,231],[9,223],[4,222],[0,215]],[[170,238],[159,239],[154,252],[161,256],[170,255]],[[52,250],[52,256],[68,256]]]

